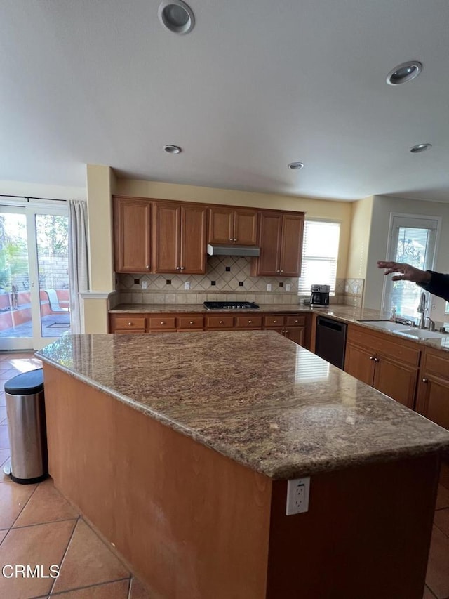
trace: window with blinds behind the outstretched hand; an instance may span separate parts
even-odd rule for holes
[[[434,264],[438,218],[391,214],[387,260],[405,262],[421,270],[431,270]],[[415,317],[422,289],[410,281],[391,281],[385,277],[382,307]]]

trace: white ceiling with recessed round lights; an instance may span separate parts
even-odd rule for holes
[[[0,179],[449,201],[447,0],[4,0]],[[420,77],[385,82],[406,60]],[[163,145],[180,145],[169,155]],[[431,150],[411,154],[417,143]],[[291,171],[287,164],[304,163]]]

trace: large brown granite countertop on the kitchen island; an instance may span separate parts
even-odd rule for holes
[[[274,479],[449,447],[449,432],[274,331],[62,336],[37,355]]]

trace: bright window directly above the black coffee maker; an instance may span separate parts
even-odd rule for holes
[[[340,223],[305,221],[299,294],[309,294],[310,286],[314,284],[330,285],[330,292],[335,293],[339,240]]]

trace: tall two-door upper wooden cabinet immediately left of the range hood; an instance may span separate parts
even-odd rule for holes
[[[154,272],[206,272],[206,206],[154,202]]]

